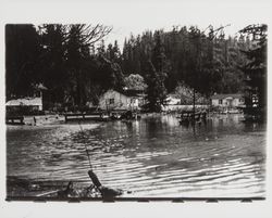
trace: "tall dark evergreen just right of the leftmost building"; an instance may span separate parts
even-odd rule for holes
[[[42,52],[39,64],[40,82],[48,89],[51,103],[63,103],[67,84],[65,42],[66,26],[49,24],[39,26]]]

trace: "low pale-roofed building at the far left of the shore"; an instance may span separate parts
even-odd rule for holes
[[[41,97],[10,100],[5,103],[8,113],[30,113],[42,111]]]

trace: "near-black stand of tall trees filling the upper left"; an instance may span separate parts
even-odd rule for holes
[[[122,88],[120,65],[95,54],[95,43],[110,31],[102,25],[7,25],[7,99],[33,95],[42,84],[52,105],[84,106]]]

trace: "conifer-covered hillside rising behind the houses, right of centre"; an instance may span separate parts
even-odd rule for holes
[[[240,50],[249,47],[251,41],[244,36],[225,38],[223,28],[215,31],[212,26],[206,31],[191,26],[131,36],[123,48],[121,66],[124,73],[145,76],[145,63],[152,56],[157,35],[161,36],[169,62],[168,92],[181,81],[207,95],[243,90],[244,74],[238,66],[246,62],[246,57]]]

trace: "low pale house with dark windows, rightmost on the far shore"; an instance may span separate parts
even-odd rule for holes
[[[245,105],[243,94],[214,94],[211,97],[211,105],[234,108]]]

